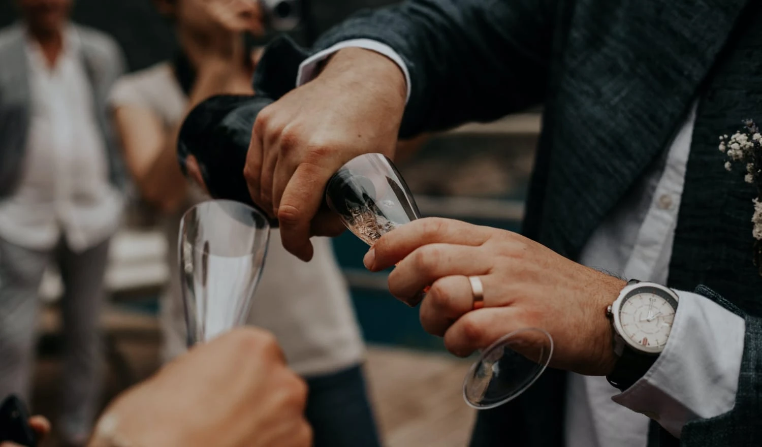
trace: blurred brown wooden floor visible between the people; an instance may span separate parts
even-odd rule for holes
[[[119,349],[136,378],[145,378],[158,366],[157,340],[120,341]],[[469,362],[444,354],[371,347],[367,376],[384,445],[467,445],[474,411],[463,403],[461,385],[468,367]],[[34,411],[54,422],[60,373],[55,356],[38,360]],[[110,369],[105,399],[120,389],[120,381]],[[54,433],[42,447],[56,445]]]

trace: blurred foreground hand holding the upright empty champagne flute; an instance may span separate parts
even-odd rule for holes
[[[235,329],[120,395],[89,445],[306,447],[306,391],[271,334]]]

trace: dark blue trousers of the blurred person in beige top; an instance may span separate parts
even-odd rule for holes
[[[381,445],[360,366],[306,381],[306,417],[315,433],[315,447]]]

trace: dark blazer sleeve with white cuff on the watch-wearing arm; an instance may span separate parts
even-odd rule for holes
[[[682,445],[758,445],[762,320],[700,286],[680,304],[664,351],[635,385],[613,397],[656,420]]]

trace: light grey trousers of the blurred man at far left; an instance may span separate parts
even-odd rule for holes
[[[15,393],[29,402],[38,290],[45,267],[56,262],[64,286],[66,346],[58,428],[72,442],[86,439],[98,410],[102,375],[98,318],[107,257],[108,241],[74,253],[65,242],[51,251],[34,251],[0,238],[0,399]]]

